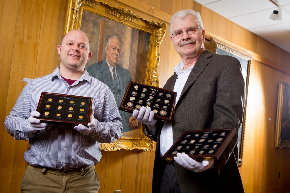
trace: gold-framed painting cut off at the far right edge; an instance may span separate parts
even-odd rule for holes
[[[279,83],[275,148],[290,148],[290,85]]]

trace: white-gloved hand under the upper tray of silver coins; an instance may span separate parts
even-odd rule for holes
[[[154,118],[154,112],[151,111],[150,107],[141,107],[140,110],[134,110],[133,111],[133,117],[137,119],[140,123],[143,123],[145,125],[149,126],[155,126],[156,121]]]

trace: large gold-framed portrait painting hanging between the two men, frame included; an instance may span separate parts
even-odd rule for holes
[[[166,24],[148,21],[103,1],[69,0],[68,5],[64,34],[74,29],[87,34],[92,57],[86,69],[108,85],[118,106],[130,80],[158,87],[160,43]],[[113,71],[109,71],[114,66],[117,81]],[[124,134],[113,143],[100,144],[102,150],[153,152],[153,141],[143,134],[142,124],[131,113],[120,111],[120,114]]]

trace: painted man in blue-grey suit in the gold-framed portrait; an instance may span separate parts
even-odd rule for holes
[[[121,44],[117,36],[112,36],[106,44],[106,59],[89,66],[86,70],[92,76],[105,83],[113,92],[118,106],[121,105],[123,96],[132,80],[130,72],[118,65],[121,52]],[[122,117],[124,132],[137,127],[138,121],[124,111],[119,111]]]

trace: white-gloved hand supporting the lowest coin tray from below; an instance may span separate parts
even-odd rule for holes
[[[189,155],[185,153],[177,153],[177,157],[173,157],[173,159],[182,167],[185,167],[188,170],[193,172],[202,172],[204,170],[210,169],[214,166],[214,161],[195,161],[194,159],[190,158]]]

